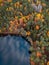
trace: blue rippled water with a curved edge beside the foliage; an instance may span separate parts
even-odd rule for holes
[[[30,65],[29,43],[22,37],[0,37],[0,65]]]

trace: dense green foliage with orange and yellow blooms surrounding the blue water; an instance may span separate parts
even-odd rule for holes
[[[0,33],[14,32],[31,42],[31,65],[49,65],[49,1],[0,0]]]

